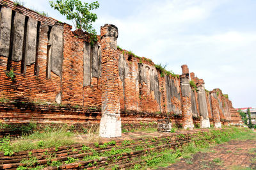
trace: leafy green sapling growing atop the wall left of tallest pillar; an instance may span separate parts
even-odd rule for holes
[[[50,1],[50,4],[54,10],[58,10],[61,15],[65,15],[67,20],[72,20],[76,29],[88,32],[92,45],[97,42],[96,30],[92,26],[92,22],[95,22],[97,15],[91,11],[99,8],[98,1],[82,3],[79,0],[56,0],[56,2]]]

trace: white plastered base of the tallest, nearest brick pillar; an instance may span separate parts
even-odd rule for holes
[[[105,113],[100,120],[100,137],[121,137],[120,114]]]

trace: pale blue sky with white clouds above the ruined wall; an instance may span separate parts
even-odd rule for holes
[[[92,2],[84,1],[83,2]],[[72,24],[47,0],[24,0],[25,6]],[[238,107],[256,107],[255,0],[100,0],[93,24],[118,27],[117,43],[137,56],[181,65],[204,79],[205,89],[222,89]]]

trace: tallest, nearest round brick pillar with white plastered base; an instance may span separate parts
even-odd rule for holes
[[[120,117],[120,97],[118,84],[118,55],[116,39],[118,29],[111,24],[100,27],[102,53],[102,118],[100,137],[120,137],[122,135]]]

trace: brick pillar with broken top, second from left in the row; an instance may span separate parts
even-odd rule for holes
[[[191,107],[191,87],[189,84],[189,70],[187,65],[182,65],[182,75],[180,76],[181,102],[183,128],[194,128],[192,107]]]

